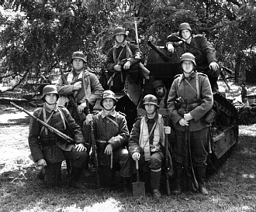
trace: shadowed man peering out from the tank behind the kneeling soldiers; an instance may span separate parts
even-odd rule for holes
[[[167,108],[168,90],[164,86],[163,80],[155,80],[153,82],[154,93],[157,97],[159,108]]]

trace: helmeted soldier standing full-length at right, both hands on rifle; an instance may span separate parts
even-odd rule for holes
[[[175,128],[176,142],[173,156],[176,165],[175,194],[182,193],[182,176],[185,167],[185,126],[188,126],[191,143],[192,166],[199,183],[199,193],[208,194],[204,184],[206,177],[206,159],[209,124],[203,116],[213,107],[213,93],[206,74],[195,70],[195,56],[182,54],[183,74],[175,76],[168,94],[168,111]],[[179,99],[181,104],[175,104]]]

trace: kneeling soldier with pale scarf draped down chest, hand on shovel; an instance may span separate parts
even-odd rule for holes
[[[139,160],[150,169],[150,187],[153,197],[159,199],[161,167],[164,162],[164,140],[171,134],[171,127],[165,126],[162,115],[157,113],[157,97],[147,94],[143,99],[146,115],[137,118],[129,139],[129,152],[133,160]],[[144,166],[144,167],[145,167]]]

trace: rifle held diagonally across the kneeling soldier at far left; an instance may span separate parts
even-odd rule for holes
[[[46,122],[40,120],[39,118],[36,118],[36,116],[31,115],[29,113],[29,111],[26,111],[24,108],[19,107],[18,105],[14,104],[12,101],[10,102],[10,104],[12,104],[16,108],[18,108],[20,111],[25,112],[27,115],[29,115],[29,117],[31,117],[31,118],[35,119],[36,121],[40,122],[40,124],[43,125],[44,127],[46,127],[47,129],[49,129],[50,132],[54,132],[56,135],[60,136],[61,138],[64,138],[67,142],[74,142],[73,138],[71,138],[68,135],[64,134],[63,132],[57,130],[56,128],[52,127],[51,125],[48,125]]]

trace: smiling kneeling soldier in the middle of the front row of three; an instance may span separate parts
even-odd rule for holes
[[[130,189],[132,176],[131,158],[126,145],[129,131],[126,123],[126,115],[115,111],[116,95],[110,91],[104,91],[100,101],[102,111],[95,115],[89,114],[85,119],[84,133],[86,141],[89,140],[90,122],[93,123],[99,166],[119,166],[120,176],[123,178],[123,190]],[[112,155],[112,157],[111,157]],[[103,169],[103,168],[102,168]],[[106,173],[104,173],[106,176]]]

